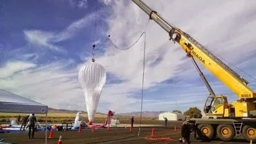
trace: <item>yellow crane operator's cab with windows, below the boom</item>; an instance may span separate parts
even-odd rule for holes
[[[226,96],[209,96],[205,101],[203,112],[207,116],[229,117],[230,107],[228,105],[228,100],[226,99]]]

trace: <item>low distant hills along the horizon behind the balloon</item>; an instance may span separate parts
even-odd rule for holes
[[[48,111],[54,111],[54,112],[62,112],[62,113],[77,113],[79,111],[70,111],[67,109],[53,109],[51,107],[48,108]],[[83,113],[87,113],[86,111],[81,111]],[[158,117],[160,113],[165,113],[167,111],[142,111],[142,117]],[[104,114],[104,113],[98,113],[98,114]],[[131,113],[116,113],[116,116],[129,116],[129,117],[140,117],[140,112],[135,111]]]

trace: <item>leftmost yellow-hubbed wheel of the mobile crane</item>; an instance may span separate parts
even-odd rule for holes
[[[198,136],[203,140],[210,140],[213,138],[214,129],[211,124],[199,124],[197,129]]]

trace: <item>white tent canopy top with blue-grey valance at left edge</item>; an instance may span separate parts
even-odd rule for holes
[[[0,89],[0,112],[47,113],[48,106]]]

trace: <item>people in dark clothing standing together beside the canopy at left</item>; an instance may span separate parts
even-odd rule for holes
[[[20,116],[18,117],[18,122],[20,121]],[[35,135],[35,124],[37,122],[37,118],[35,118],[35,114],[32,113],[30,115],[26,115],[22,118],[22,125],[20,126],[20,130],[25,130],[28,128],[28,138],[34,138]]]

